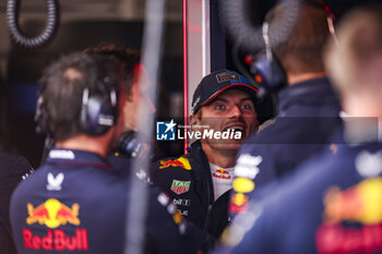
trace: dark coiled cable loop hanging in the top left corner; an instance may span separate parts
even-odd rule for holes
[[[41,49],[55,36],[59,24],[58,0],[46,0],[47,24],[44,32],[37,37],[31,38],[23,35],[19,26],[19,9],[21,0],[8,0],[7,22],[11,39],[19,46],[27,49]]]

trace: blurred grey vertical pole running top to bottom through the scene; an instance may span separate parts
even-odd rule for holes
[[[147,76],[143,75],[140,89],[143,93],[143,87],[150,87],[144,93],[156,105],[157,87],[160,73],[160,62],[163,55],[163,34],[164,34],[164,13],[165,0],[147,0],[146,13],[143,34],[143,58],[142,63],[147,70]],[[147,133],[152,133],[154,126],[154,113],[151,107],[144,101],[140,101],[138,112],[138,130],[145,129]],[[144,141],[144,134],[138,132],[138,140]],[[148,152],[151,153],[151,152]],[[150,167],[150,156],[146,158],[135,157],[132,161],[131,172],[145,173],[148,176],[147,168]],[[130,202],[128,204],[127,217],[127,241],[126,254],[143,253],[145,221],[147,211],[147,184],[135,176],[131,177]]]

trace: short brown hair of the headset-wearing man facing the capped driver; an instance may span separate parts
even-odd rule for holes
[[[285,9],[284,4],[278,4],[267,14],[271,31],[272,19],[277,19]],[[297,22],[288,38],[273,50],[287,73],[323,72],[322,53],[329,35],[327,14],[324,9],[305,2],[299,9]]]

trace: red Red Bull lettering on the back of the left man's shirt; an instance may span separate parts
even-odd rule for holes
[[[23,229],[24,247],[26,250],[45,251],[87,251],[87,231],[86,229],[75,229],[74,235],[67,235],[61,229],[48,229],[47,234],[34,235],[32,230]]]

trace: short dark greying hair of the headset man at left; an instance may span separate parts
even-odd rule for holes
[[[103,82],[100,87],[99,78],[104,78],[105,73],[108,82]],[[84,52],[63,56],[46,68],[40,78],[41,110],[55,141],[65,141],[82,133],[80,113],[84,88],[91,94],[103,95],[111,89],[119,94],[121,74],[117,59]]]

